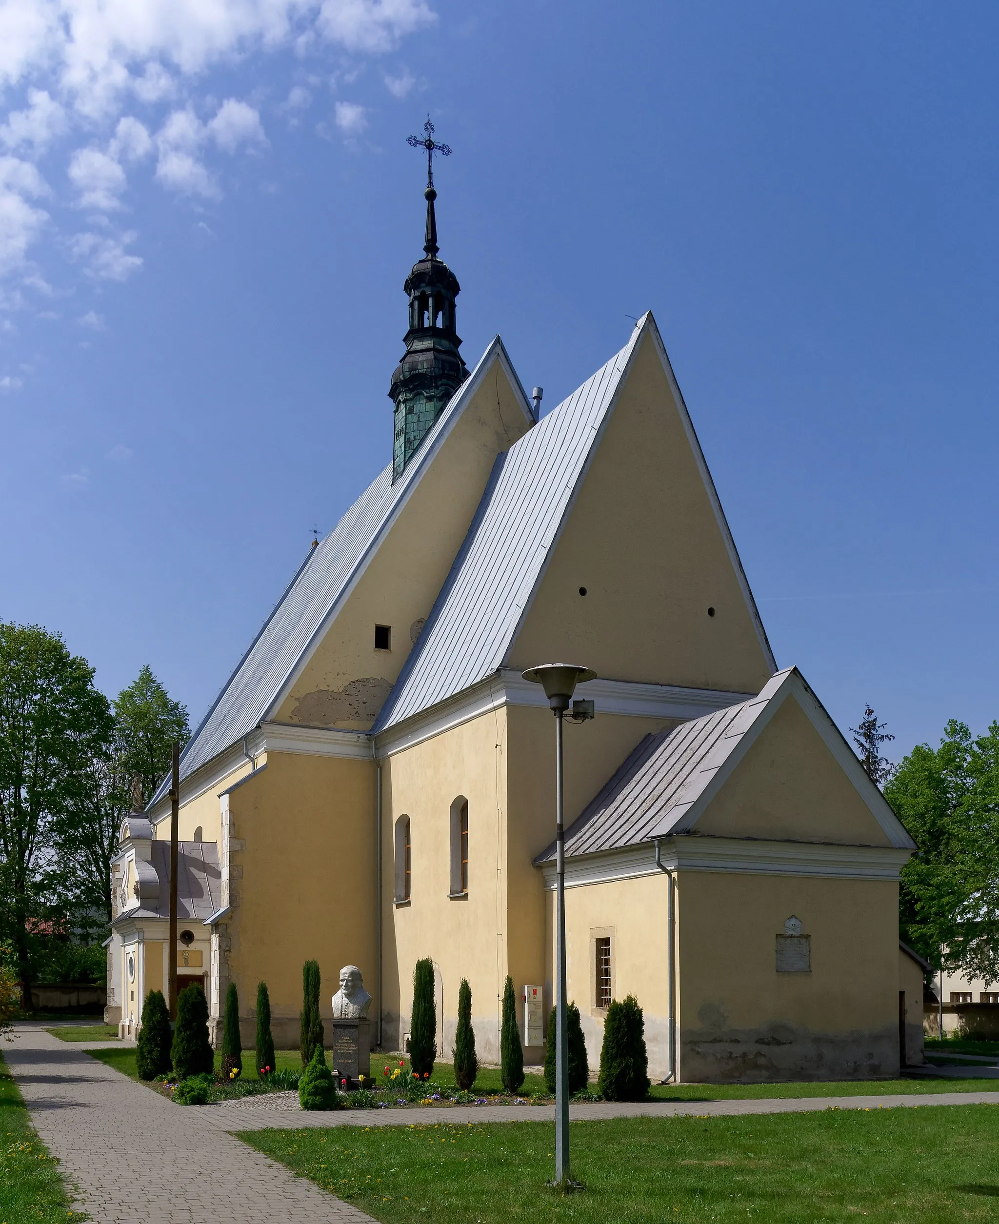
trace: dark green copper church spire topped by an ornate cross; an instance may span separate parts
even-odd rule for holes
[[[424,124],[422,136],[410,136],[408,143],[426,149],[427,202],[424,258],[414,263],[404,285],[409,296],[409,330],[405,354],[392,376],[389,398],[395,405],[392,479],[405,471],[433,422],[448,400],[468,378],[458,351],[462,339],[455,330],[454,299],[460,293],[458,278],[437,258],[437,214],[433,207],[433,154],[449,157],[447,144],[433,140],[433,124]]]

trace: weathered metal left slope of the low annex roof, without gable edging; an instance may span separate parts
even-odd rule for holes
[[[749,701],[646,736],[566,830],[566,853],[621,849],[676,831],[791,671],[771,676]],[[555,842],[535,863],[552,858]]]

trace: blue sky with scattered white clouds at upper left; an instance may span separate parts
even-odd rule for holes
[[[197,720],[391,458],[426,111],[474,364],[651,308],[777,661],[999,717],[992,4],[7,0],[0,616]]]

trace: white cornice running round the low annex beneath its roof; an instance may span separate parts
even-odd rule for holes
[[[758,875],[819,875],[829,879],[897,880],[911,851],[894,846],[757,841],[736,837],[667,837],[661,863],[681,871],[747,871]],[[580,854],[566,859],[566,887],[655,875],[655,845]],[[545,887],[555,887],[555,860],[541,864]]]

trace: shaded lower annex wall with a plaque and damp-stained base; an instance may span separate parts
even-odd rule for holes
[[[899,886],[678,873],[684,1081],[862,1078],[899,1070]],[[776,971],[796,917],[810,972]]]

